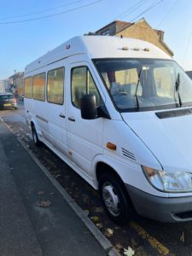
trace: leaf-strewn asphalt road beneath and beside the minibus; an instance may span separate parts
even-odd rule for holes
[[[192,223],[162,224],[136,215],[125,227],[113,224],[102,211],[98,193],[89,184],[49,148],[34,146],[22,105],[18,110],[0,111],[0,118],[9,125],[16,137],[26,143],[26,147],[61,183],[119,253],[124,255],[124,250],[131,247],[135,255],[192,255]]]

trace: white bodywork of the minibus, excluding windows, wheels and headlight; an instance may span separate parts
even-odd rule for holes
[[[63,104],[47,102],[46,91],[44,102],[25,98],[27,124],[35,125],[39,140],[95,189],[98,189],[96,167],[102,163],[110,166],[125,183],[137,212],[156,219],[161,219],[162,213],[164,221],[166,218],[176,221],[172,212],[182,211],[183,206],[186,212],[192,211],[192,193],[154,189],[142,166],[167,172],[192,172],[191,115],[159,119],[154,111],[120,113],[92,61],[102,58],[172,59],[142,40],[107,36],[72,38],[26,66],[25,78],[65,68]],[[72,69],[84,66],[90,71],[108,118],[82,119],[80,109],[73,106]],[[109,149],[108,143],[113,143],[116,149]],[[174,201],[167,201],[171,198]]]

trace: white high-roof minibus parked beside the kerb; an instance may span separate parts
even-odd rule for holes
[[[26,122],[118,224],[192,220],[192,81],[153,44],[75,37],[25,69]]]

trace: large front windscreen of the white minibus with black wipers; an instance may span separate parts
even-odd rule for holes
[[[120,112],[192,105],[192,80],[175,61],[100,59],[94,62]]]

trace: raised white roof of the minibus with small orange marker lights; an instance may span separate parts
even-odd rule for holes
[[[110,36],[75,37],[26,66],[25,73],[60,61],[70,55],[88,54],[97,58],[155,58],[172,59],[163,50],[146,41],[135,38]]]

